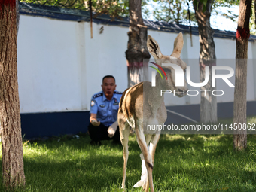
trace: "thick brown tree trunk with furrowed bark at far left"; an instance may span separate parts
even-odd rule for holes
[[[16,1],[0,0],[0,126],[5,187],[25,184],[17,81]]]

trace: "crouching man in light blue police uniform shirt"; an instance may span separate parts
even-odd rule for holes
[[[120,143],[117,112],[123,93],[115,91],[116,87],[114,77],[106,75],[102,79],[102,91],[92,96],[88,126],[91,145],[100,145],[100,141],[110,139],[113,139],[114,143]]]

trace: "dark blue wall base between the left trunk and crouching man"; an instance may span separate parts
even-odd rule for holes
[[[86,133],[89,117],[89,111],[21,114],[21,128],[26,139]]]

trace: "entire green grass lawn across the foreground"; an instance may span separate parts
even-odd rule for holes
[[[23,142],[26,187],[20,191],[122,191],[122,147],[89,143],[89,136]],[[141,174],[135,136],[129,146],[126,191],[142,191],[133,188]],[[248,135],[245,152],[233,151],[232,135],[163,135],[155,156],[155,191],[256,191],[255,152],[254,135]]]

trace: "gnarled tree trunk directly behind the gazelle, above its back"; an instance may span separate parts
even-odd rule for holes
[[[148,81],[148,70],[143,69],[143,59],[149,59],[147,47],[148,29],[142,19],[142,1],[129,0],[130,28],[126,50],[128,66],[128,87],[142,81]],[[145,66],[148,69],[148,66]],[[145,72],[145,73],[144,73]]]

